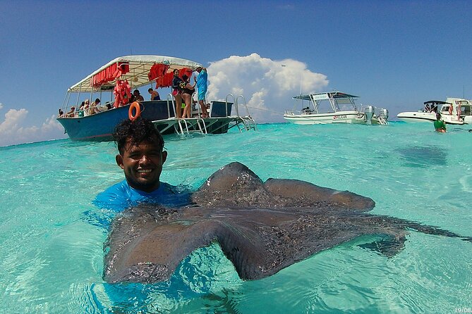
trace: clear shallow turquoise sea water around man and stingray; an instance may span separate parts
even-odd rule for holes
[[[472,237],[472,134],[429,124],[259,125],[258,132],[166,137],[162,180],[197,188],[239,161],[258,174],[369,196],[373,213]],[[454,313],[472,308],[472,244],[410,232],[392,258],[362,237],[276,275],[243,282],[217,245],[169,282],[107,285],[106,232],[87,221],[99,191],[122,180],[113,143],[69,140],[0,148],[2,313]]]

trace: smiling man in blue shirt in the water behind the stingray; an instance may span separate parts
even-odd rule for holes
[[[171,207],[190,203],[188,192],[160,181],[167,151],[151,120],[124,120],[116,126],[113,137],[119,151],[116,164],[123,169],[125,180],[99,193],[93,202],[96,206],[119,212],[138,203]]]

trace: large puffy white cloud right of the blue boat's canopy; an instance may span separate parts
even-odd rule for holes
[[[210,63],[207,99],[224,101],[228,94],[243,95],[256,122],[277,122],[283,120],[286,109],[292,108],[292,96],[300,90],[320,92],[328,83],[326,75],[313,73],[305,63],[293,59],[274,61],[258,54],[230,56]]]

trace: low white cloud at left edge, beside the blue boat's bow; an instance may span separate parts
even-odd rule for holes
[[[5,120],[0,123],[0,146],[63,137],[63,128],[56,122],[54,115],[47,118],[39,127],[25,126],[27,116],[28,111],[25,108],[10,109],[5,113]]]

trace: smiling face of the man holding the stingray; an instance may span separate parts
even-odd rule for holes
[[[162,151],[152,142],[142,142],[137,146],[128,143],[123,156],[116,155],[116,163],[123,169],[128,184],[148,193],[159,188],[162,164],[166,159],[167,151]]]

